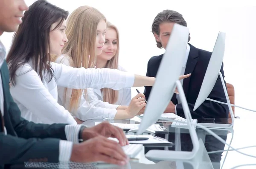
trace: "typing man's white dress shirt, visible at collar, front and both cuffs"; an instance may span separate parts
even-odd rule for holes
[[[3,65],[4,59],[6,56],[6,50],[0,41],[0,68]],[[0,76],[0,110],[2,115],[4,115],[3,109],[3,84],[2,77]],[[66,125],[65,126],[65,134],[67,137],[67,141],[61,140],[59,144],[59,161],[69,161],[72,153],[73,143],[79,143],[78,135],[81,125]],[[7,134],[6,127],[4,127],[5,134]]]

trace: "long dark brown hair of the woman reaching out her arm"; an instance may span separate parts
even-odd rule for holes
[[[13,36],[12,46],[6,58],[12,85],[15,85],[17,69],[29,61],[32,61],[32,68],[41,80],[44,76],[46,78],[46,75],[49,75],[49,81],[52,79],[54,75],[50,66],[50,28],[56,22],[58,25],[54,29],[58,28],[67,17],[68,11],[46,0],[37,0],[29,6],[29,10],[24,13],[23,22]]]

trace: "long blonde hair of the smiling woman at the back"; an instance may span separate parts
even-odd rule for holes
[[[119,32],[115,25],[107,22],[107,29],[113,29],[116,31],[116,45],[117,50],[115,56],[112,59],[108,60],[105,68],[117,69],[118,68],[118,57],[119,57]],[[110,104],[115,104],[118,100],[118,90],[113,90],[110,88],[103,88],[103,101],[109,102]]]

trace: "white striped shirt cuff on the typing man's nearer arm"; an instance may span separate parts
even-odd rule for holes
[[[60,140],[59,161],[70,161],[73,143],[71,141]]]

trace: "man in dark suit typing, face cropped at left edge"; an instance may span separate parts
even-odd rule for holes
[[[27,9],[24,0],[0,0],[0,35],[4,31],[16,31]],[[5,55],[6,50],[0,42],[0,169],[27,161],[127,163],[128,158],[120,146],[128,144],[127,138],[122,129],[109,123],[87,128],[35,124],[20,117],[20,110],[9,91]],[[108,137],[116,137],[120,144]]]

